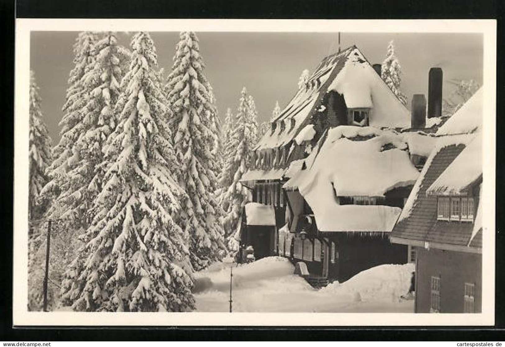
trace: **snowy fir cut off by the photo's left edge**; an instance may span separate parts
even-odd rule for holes
[[[44,213],[45,203],[38,197],[47,183],[45,170],[51,165],[51,137],[42,119],[41,98],[33,71],[30,72],[30,133],[29,133],[29,184],[28,216],[30,221],[38,220]]]

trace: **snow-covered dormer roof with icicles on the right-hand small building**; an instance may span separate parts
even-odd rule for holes
[[[427,194],[452,195],[464,192],[482,177],[482,136],[480,133],[442,172],[426,191]]]

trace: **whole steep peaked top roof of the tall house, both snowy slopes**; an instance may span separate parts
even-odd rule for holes
[[[344,96],[348,108],[372,108],[370,125],[377,127],[410,126],[409,111],[382,81],[356,46],[328,56],[319,64],[286,108],[273,121],[275,130],[267,131],[255,150],[275,148],[293,140],[315,112],[327,92]],[[303,136],[305,138],[305,136]]]

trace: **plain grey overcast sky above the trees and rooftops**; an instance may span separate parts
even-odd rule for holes
[[[42,97],[44,120],[56,144],[58,123],[73,68],[72,45],[77,32],[32,32],[31,69],[35,72]],[[129,47],[132,33],[118,34],[120,43]],[[238,106],[245,86],[256,101],[259,122],[270,119],[275,102],[281,109],[296,93],[301,71],[311,72],[319,62],[338,51],[336,33],[233,33],[201,32],[200,53],[205,73],[217,98],[219,116]],[[158,52],[158,63],[165,76],[172,66],[176,32],[151,33]],[[444,93],[451,79],[474,79],[482,84],[482,34],[455,33],[342,33],[342,49],[356,44],[370,63],[381,63],[387,44],[394,40],[396,56],[402,67],[401,89],[409,103],[414,93],[427,95],[430,67],[441,67]],[[444,96],[445,96],[444,95]]]

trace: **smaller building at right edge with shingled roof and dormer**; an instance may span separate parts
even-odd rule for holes
[[[436,133],[391,241],[415,247],[419,313],[481,312],[482,88]]]

